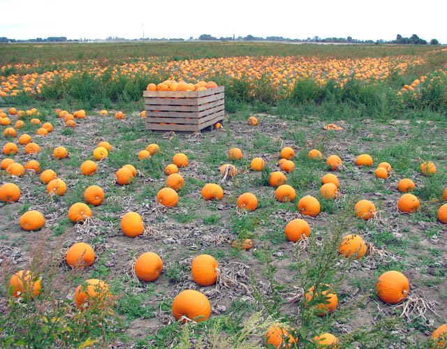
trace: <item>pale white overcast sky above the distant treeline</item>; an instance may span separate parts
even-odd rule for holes
[[[15,39],[418,35],[447,43],[446,0],[0,0],[0,36]]]

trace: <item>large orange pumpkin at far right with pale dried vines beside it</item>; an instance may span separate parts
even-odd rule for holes
[[[395,270],[384,272],[376,281],[376,292],[383,302],[397,304],[402,302],[410,289],[406,276]]]

